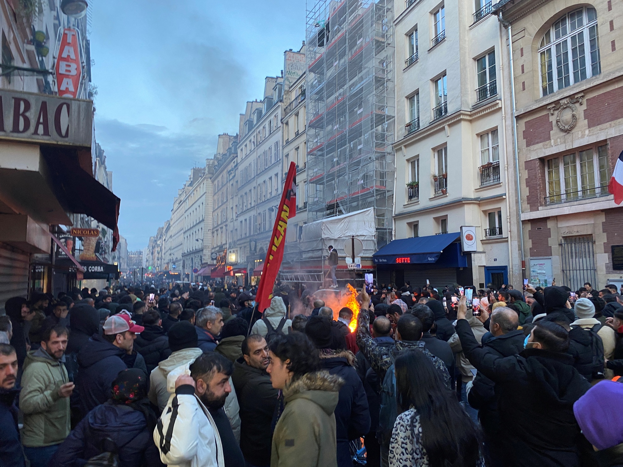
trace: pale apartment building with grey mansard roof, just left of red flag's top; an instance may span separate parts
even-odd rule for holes
[[[262,101],[247,102],[240,115],[235,176],[229,183],[234,223],[227,264],[235,273],[252,273],[266,256],[283,184],[282,115],[283,77],[267,77]]]

